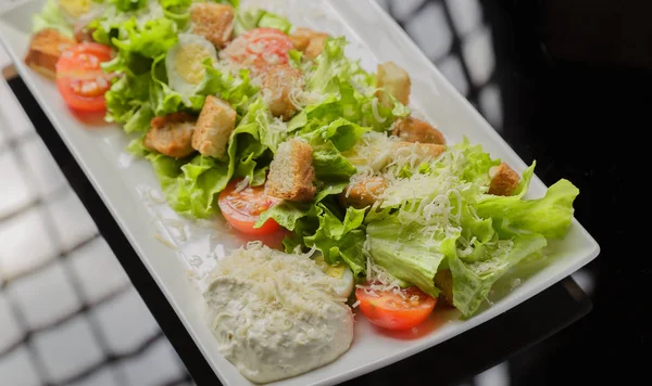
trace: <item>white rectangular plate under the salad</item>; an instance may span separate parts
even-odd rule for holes
[[[152,200],[150,192],[156,192],[159,184],[148,162],[125,153],[129,138],[115,126],[96,126],[77,119],[65,107],[53,82],[23,64],[30,18],[43,1],[28,0],[0,14],[0,38],[4,47],[220,379],[226,385],[249,384],[218,352],[203,319],[201,281],[196,280],[214,263],[211,254],[222,255],[225,248],[239,246],[246,240],[226,230],[221,220],[191,223],[180,219],[165,204]],[[397,62],[412,76],[414,106],[435,121],[450,142],[466,136],[515,170],[521,172],[526,168],[493,128],[373,1],[259,2],[285,14],[297,25],[346,35],[351,42],[348,54],[360,57],[369,70],[374,70],[378,62]],[[546,185],[535,177],[529,196],[542,196],[544,190]],[[474,318],[460,321],[456,313],[437,311],[416,333],[392,335],[379,332],[363,317],[358,317],[355,338],[348,352],[328,365],[278,384],[336,384],[404,359],[517,306],[591,261],[599,250],[595,241],[574,219],[568,235],[550,245],[546,265],[522,267],[503,278],[491,295],[493,305]],[[521,284],[513,287],[515,282]]]

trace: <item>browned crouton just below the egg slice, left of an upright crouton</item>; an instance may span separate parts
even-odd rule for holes
[[[154,117],[142,144],[161,154],[174,158],[183,158],[193,152],[192,131],[195,117],[187,113],[172,113],[163,117]]]

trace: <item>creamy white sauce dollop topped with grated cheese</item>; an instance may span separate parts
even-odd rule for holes
[[[217,263],[204,293],[224,357],[267,383],[334,361],[353,339],[353,313],[338,281],[306,255],[250,243]]]

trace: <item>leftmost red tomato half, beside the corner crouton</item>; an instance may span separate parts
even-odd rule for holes
[[[110,61],[110,47],[83,42],[66,50],[57,62],[57,87],[65,103],[79,112],[106,108],[104,93],[111,88],[111,76],[100,64]]]

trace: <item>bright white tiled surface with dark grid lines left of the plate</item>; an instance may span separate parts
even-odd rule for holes
[[[183,382],[176,352],[0,79],[0,386]]]

